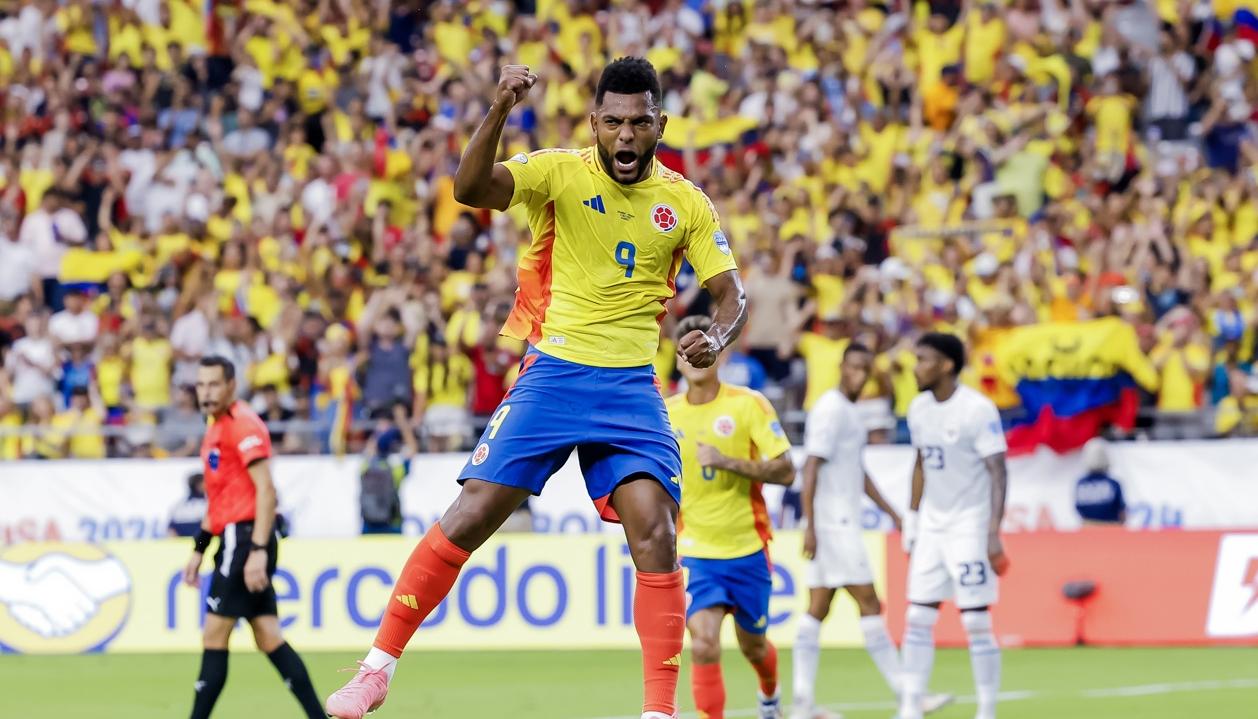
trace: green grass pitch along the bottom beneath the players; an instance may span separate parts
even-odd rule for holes
[[[304,655],[321,695],[340,686],[351,654]],[[1258,649],[1039,649],[1004,654],[1001,716],[1258,718]],[[0,656],[3,716],[150,719],[185,716],[199,655]],[[789,696],[790,652],[781,676]],[[389,703],[374,716],[467,719],[637,719],[639,664],[629,651],[423,652],[403,661]],[[755,679],[742,657],[725,655],[730,716],[750,716]],[[678,695],[693,716],[686,664]],[[882,679],[862,650],[828,650],[818,700],[847,716],[891,716]],[[942,650],[933,690],[960,698],[935,716],[974,715],[970,662]],[[301,716],[269,662],[233,652],[215,716]]]

